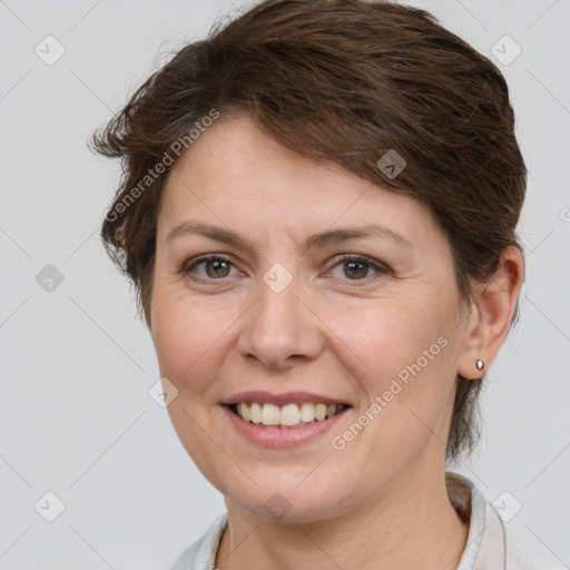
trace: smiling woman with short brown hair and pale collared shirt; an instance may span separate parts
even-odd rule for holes
[[[518,316],[513,127],[425,11],[268,0],[95,137],[125,168],[102,238],[227,507],[173,569],[533,568],[445,471]]]

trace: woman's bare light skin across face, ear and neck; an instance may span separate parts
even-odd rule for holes
[[[230,228],[247,246],[190,234],[167,242],[185,220]],[[368,224],[389,226],[412,247],[372,236],[305,248],[309,235]],[[217,273],[212,263],[190,267],[204,254],[232,264]],[[341,254],[370,257],[386,273],[351,269]],[[275,263],[293,278],[281,293],[263,281]],[[445,236],[415,200],[309,161],[247,117],[202,135],[165,188],[151,335],[161,376],[178,389],[168,406],[177,434],[225,497],[229,525],[216,566],[456,568],[468,525],[444,482],[455,375],[480,377],[476,358],[490,366],[522,279],[523,261],[510,248],[469,305]],[[445,347],[335,450],[333,436],[439,337]],[[265,449],[239,434],[220,406],[249,390],[314,392],[352,410],[301,446]],[[275,492],[288,503],[281,520],[264,509]]]

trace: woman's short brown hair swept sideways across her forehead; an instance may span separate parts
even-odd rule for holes
[[[96,151],[122,159],[101,237],[148,326],[167,176],[148,178],[148,189],[140,180],[213,109],[247,114],[295,153],[421,202],[449,238],[468,301],[505,247],[522,252],[515,226],[527,169],[508,86],[488,58],[416,8],[267,0],[180,49],[94,135]],[[406,163],[395,177],[377,166],[390,150]],[[480,389],[458,375],[448,459],[479,440]]]

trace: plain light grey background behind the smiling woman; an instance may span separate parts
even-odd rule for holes
[[[490,501],[511,493],[508,527],[570,564],[570,2],[414,3],[491,58],[504,35],[522,48],[499,63],[530,170],[521,321],[489,374],[480,451],[452,469]],[[98,237],[119,166],[86,140],[235,6],[0,1],[0,569],[166,569],[225,509],[147,393],[151,340]],[[66,50],[52,66],[35,52],[55,53],[48,35]],[[51,293],[47,264],[63,275]],[[48,491],[66,507],[51,523]]]

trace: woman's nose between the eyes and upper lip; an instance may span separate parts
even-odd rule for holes
[[[287,370],[296,362],[311,361],[323,347],[320,320],[301,297],[297,279],[285,289],[273,291],[259,281],[257,302],[242,320],[239,353],[268,368]],[[301,295],[301,296],[299,296]]]

